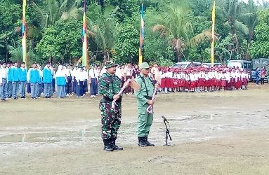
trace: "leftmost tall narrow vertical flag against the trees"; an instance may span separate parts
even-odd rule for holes
[[[27,59],[27,43],[26,43],[26,0],[22,2],[22,62],[25,62],[25,66],[28,65]]]

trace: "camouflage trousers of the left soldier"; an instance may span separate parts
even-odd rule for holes
[[[117,133],[119,126],[121,125],[122,118],[121,106],[117,106],[115,109],[112,109],[111,103],[100,103],[99,109],[102,117],[102,138],[117,138]]]

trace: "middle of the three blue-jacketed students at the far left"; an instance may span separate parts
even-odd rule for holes
[[[18,68],[18,62],[14,62],[14,65],[11,67],[9,70],[10,73],[9,75],[10,80],[12,82],[12,98],[13,99],[18,99],[18,89],[19,89],[19,76],[20,76],[20,71]]]

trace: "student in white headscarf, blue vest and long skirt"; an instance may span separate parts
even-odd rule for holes
[[[65,85],[66,85],[66,78],[65,72],[63,71],[63,66],[58,66],[58,70],[55,73],[56,77],[56,84],[57,84],[57,97],[63,98],[66,96],[65,92]]]

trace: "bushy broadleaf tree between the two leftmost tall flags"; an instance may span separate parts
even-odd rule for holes
[[[53,57],[56,62],[70,62],[81,52],[81,25],[76,20],[59,20],[49,26],[37,44],[37,53],[43,60]]]

